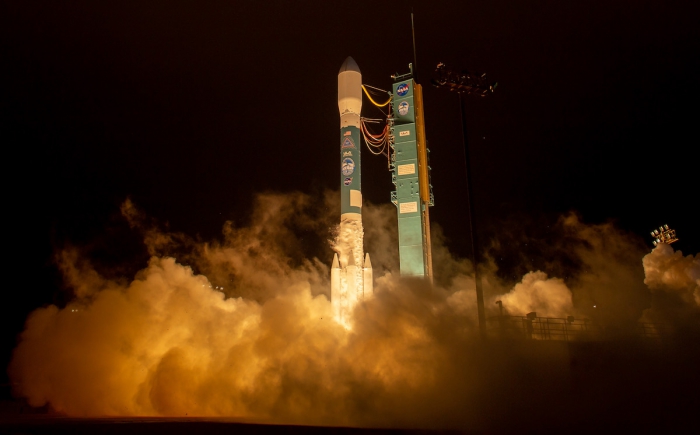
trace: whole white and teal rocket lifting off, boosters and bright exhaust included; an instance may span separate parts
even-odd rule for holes
[[[362,74],[352,57],[338,73],[340,111],[340,230],[331,267],[331,305],[335,319],[350,327],[355,305],[373,293],[372,264],[364,252],[360,176]],[[340,255],[338,255],[340,254]]]

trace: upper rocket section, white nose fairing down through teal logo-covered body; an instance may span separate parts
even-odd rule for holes
[[[360,178],[360,110],[362,74],[352,57],[338,73],[340,111],[340,221],[362,219]]]

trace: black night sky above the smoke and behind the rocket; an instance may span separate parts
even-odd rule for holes
[[[468,99],[482,240],[573,210],[650,249],[668,224],[676,249],[700,252],[693,2],[2,1],[0,365],[26,315],[62,302],[56,249],[123,260],[138,244],[113,243],[127,197],[208,240],[256,193],[337,189],[338,69],[352,56],[390,89],[413,60],[412,6],[431,221],[456,255],[470,252],[463,144],[457,96],[430,86],[438,62],[498,82]],[[363,114],[381,115],[366,100]],[[385,159],[364,153],[362,178],[366,201],[389,201]]]

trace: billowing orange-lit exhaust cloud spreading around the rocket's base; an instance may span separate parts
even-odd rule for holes
[[[522,343],[499,355],[479,344],[472,265],[449,254],[439,229],[436,285],[397,276],[390,205],[364,210],[375,297],[358,305],[352,330],[335,323],[328,301],[332,252],[300,259],[303,243],[293,228],[327,232],[337,219],[336,197],[329,193],[319,205],[302,194],[260,195],[252,223],[227,223],[223,241],[212,243],[163,233],[127,201],[122,213],[144,233],[148,266],[123,283],[101,276],[76,250],[59,253],[75,298],[27,319],[9,367],[15,393],[72,416],[481,427],[484,415],[527,414],[536,404],[523,406],[515,392],[529,391],[532,382],[542,394],[571,388],[563,387],[570,373],[562,348],[540,354],[535,364]],[[595,300],[608,318],[636,321],[665,312],[649,308],[651,289],[697,316],[699,256],[662,244],[644,257],[642,282],[640,245],[631,236],[575,215],[559,228],[579,272],[565,282],[533,270],[508,283],[486,265],[488,315],[501,300],[513,315],[592,316]],[[333,243],[340,250],[343,241]],[[163,254],[173,247],[188,252],[182,262]],[[484,378],[485,367],[500,383]],[[523,370],[527,376],[515,375]]]

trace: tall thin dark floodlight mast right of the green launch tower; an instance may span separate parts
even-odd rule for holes
[[[479,240],[474,222],[474,195],[472,193],[471,165],[469,162],[469,147],[467,146],[467,118],[465,96],[469,94],[485,97],[492,93],[497,86],[496,82],[489,82],[486,74],[476,74],[470,72],[455,72],[445,68],[445,64],[438,63],[435,69],[436,78],[432,83],[437,88],[447,89],[456,92],[459,96],[459,109],[462,117],[462,141],[464,143],[464,164],[467,172],[467,214],[469,216],[469,235],[472,245],[472,263],[474,264],[474,282],[476,286],[476,305],[479,316],[479,329],[481,336],[486,336],[486,314],[484,310],[484,291],[479,277]]]

